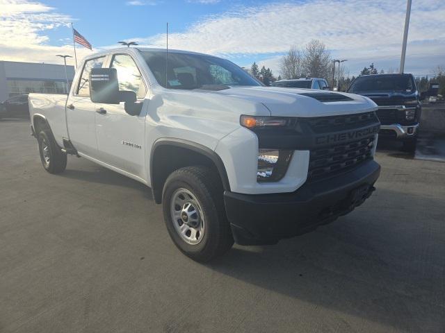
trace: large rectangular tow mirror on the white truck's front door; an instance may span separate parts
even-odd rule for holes
[[[118,71],[115,68],[93,68],[89,80],[91,101],[119,104]]]

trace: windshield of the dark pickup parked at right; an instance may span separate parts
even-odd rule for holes
[[[415,85],[410,74],[359,76],[348,92],[414,92]]]

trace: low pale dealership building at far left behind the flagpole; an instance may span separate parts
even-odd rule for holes
[[[67,66],[67,77],[70,86],[73,66]],[[0,102],[30,92],[66,94],[64,65],[0,61]]]

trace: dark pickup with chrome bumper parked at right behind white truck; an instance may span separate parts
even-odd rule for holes
[[[348,92],[367,96],[378,105],[380,137],[401,140],[406,151],[415,151],[421,94],[412,74],[359,76],[350,84]]]

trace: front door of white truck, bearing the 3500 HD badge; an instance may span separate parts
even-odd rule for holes
[[[120,91],[133,91],[136,103],[144,103],[147,85],[140,68],[129,54],[117,53],[109,67],[118,71]],[[146,105],[137,116],[125,112],[124,103],[96,105],[96,133],[99,159],[107,164],[145,178]]]

